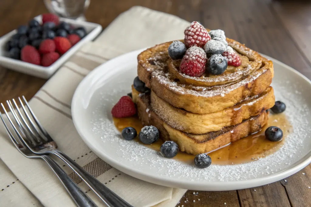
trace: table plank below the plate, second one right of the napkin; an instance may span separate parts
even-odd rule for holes
[[[238,190],[241,206],[283,206],[290,207],[285,188],[281,182]]]

